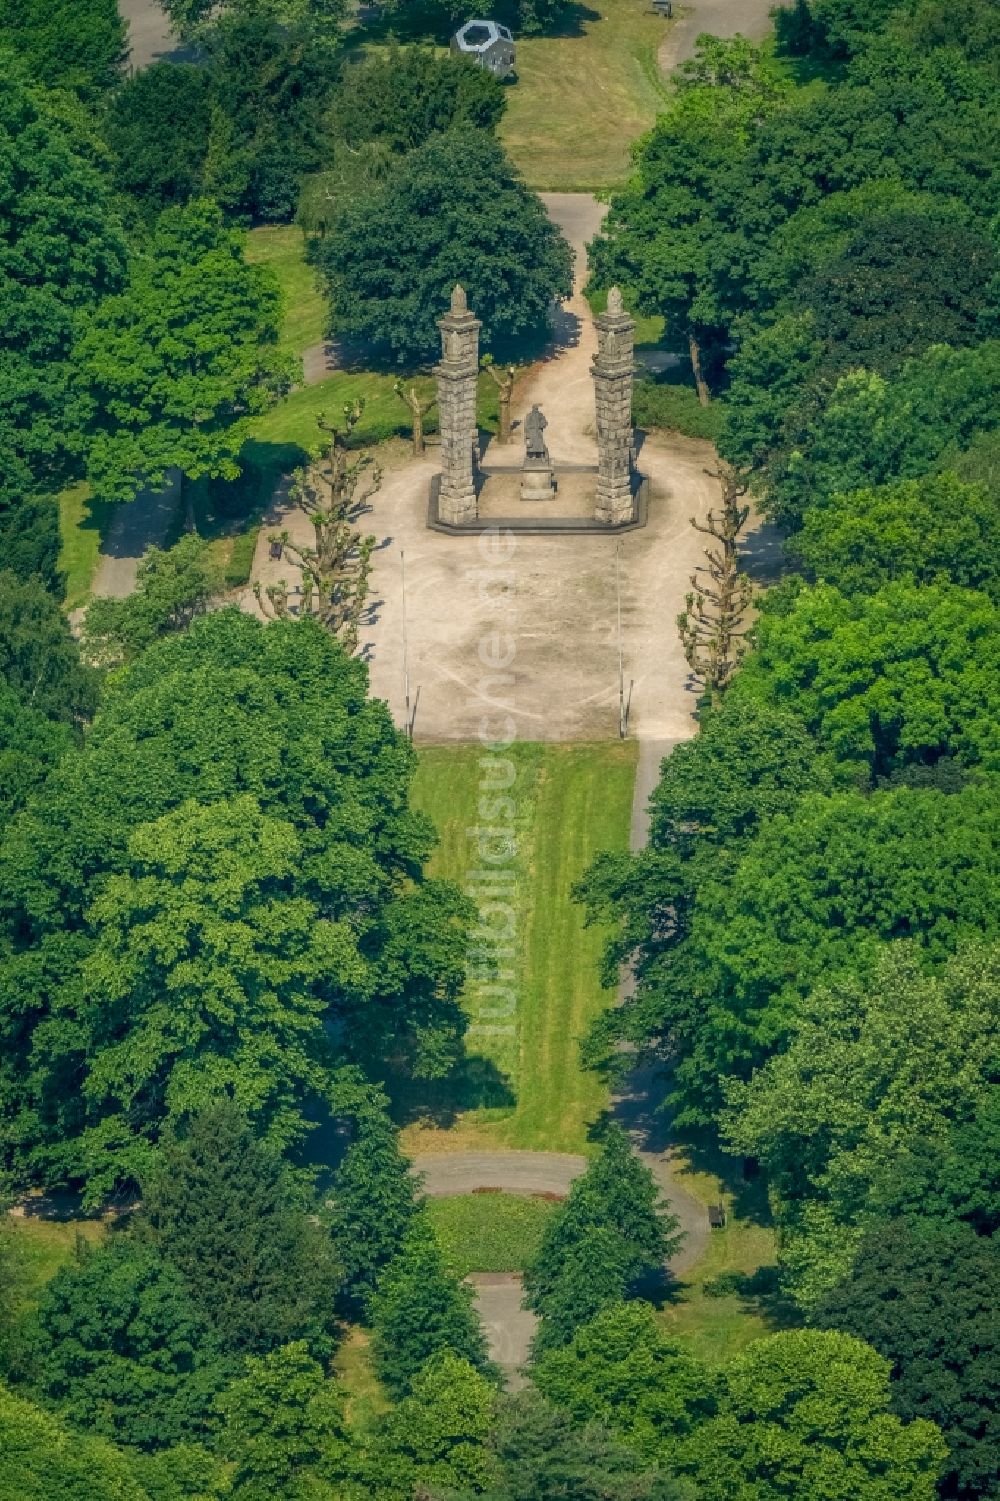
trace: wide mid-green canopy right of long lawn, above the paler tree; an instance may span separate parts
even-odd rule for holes
[[[710,1120],[721,1079],[748,1078],[781,1052],[809,991],[866,973],[886,940],[914,938],[925,964],[997,932],[995,790],[898,787],[872,796],[806,794],[734,860],[688,878],[662,866],[644,901],[686,907],[637,958],[635,995],[595,1036],[625,1036],[673,1061],[674,1108]],[[611,908],[614,911],[614,908]]]

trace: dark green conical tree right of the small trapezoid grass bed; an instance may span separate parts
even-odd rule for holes
[[[659,1271],[680,1244],[676,1231],[649,1168],[622,1127],[610,1126],[524,1274],[526,1301],[542,1318],[536,1351],[566,1343],[641,1276]]]

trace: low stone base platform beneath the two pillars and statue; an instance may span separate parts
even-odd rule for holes
[[[571,465],[556,465],[556,494],[551,500],[521,500],[521,470],[495,468],[480,473],[479,515],[474,521],[461,524],[441,521],[438,492],[441,476],[431,480],[426,524],[431,531],[443,531],[450,537],[476,536],[503,527],[505,531],[520,531],[526,536],[551,536],[556,533],[574,536],[619,536],[646,525],[649,482],[637,474],[634,482],[632,515],[614,525],[598,521],[593,513],[598,492],[598,470]]]

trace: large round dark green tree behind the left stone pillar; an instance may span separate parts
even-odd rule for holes
[[[485,131],[455,129],[410,152],[317,242],[333,332],[419,365],[440,348],[435,320],[456,282],[488,344],[548,326],[572,290],[572,255]]]

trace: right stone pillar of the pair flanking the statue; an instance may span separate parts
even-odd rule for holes
[[[595,320],[598,354],[590,366],[598,405],[598,521],[632,516],[632,371],[635,324],[622,293],[608,293],[608,311]]]

